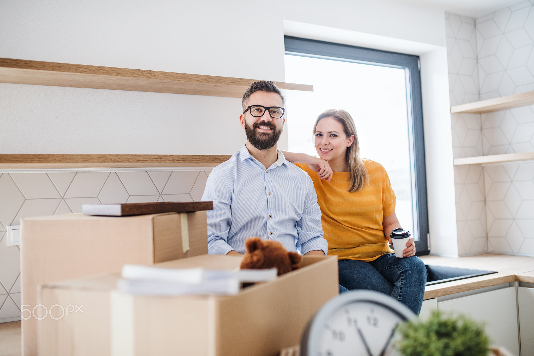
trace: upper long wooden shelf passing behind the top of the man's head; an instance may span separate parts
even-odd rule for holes
[[[69,86],[241,98],[253,79],[0,58],[0,83]],[[282,90],[313,85],[274,82]]]

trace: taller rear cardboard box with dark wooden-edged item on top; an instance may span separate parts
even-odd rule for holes
[[[29,314],[22,313],[25,356],[37,354],[35,317],[44,315],[36,307],[38,284],[119,272],[126,263],[152,265],[208,253],[206,211],[129,217],[65,214],[22,219],[21,229],[22,308],[35,314],[24,320]]]

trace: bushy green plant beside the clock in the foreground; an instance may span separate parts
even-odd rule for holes
[[[484,327],[465,315],[433,312],[425,321],[398,326],[397,350],[405,356],[486,356],[489,338]]]

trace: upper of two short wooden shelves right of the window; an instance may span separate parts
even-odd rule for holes
[[[452,106],[451,113],[482,114],[532,104],[534,104],[534,91],[529,91],[526,93],[509,95],[506,97],[499,97],[488,100],[469,102],[468,104]]]

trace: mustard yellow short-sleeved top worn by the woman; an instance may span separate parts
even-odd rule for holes
[[[334,172],[332,180],[326,181],[307,164],[296,165],[308,173],[315,186],[328,255],[370,262],[393,252],[384,236],[382,218],[395,211],[396,196],[384,167],[367,159],[362,162],[369,184],[354,193],[348,191],[349,172]]]

